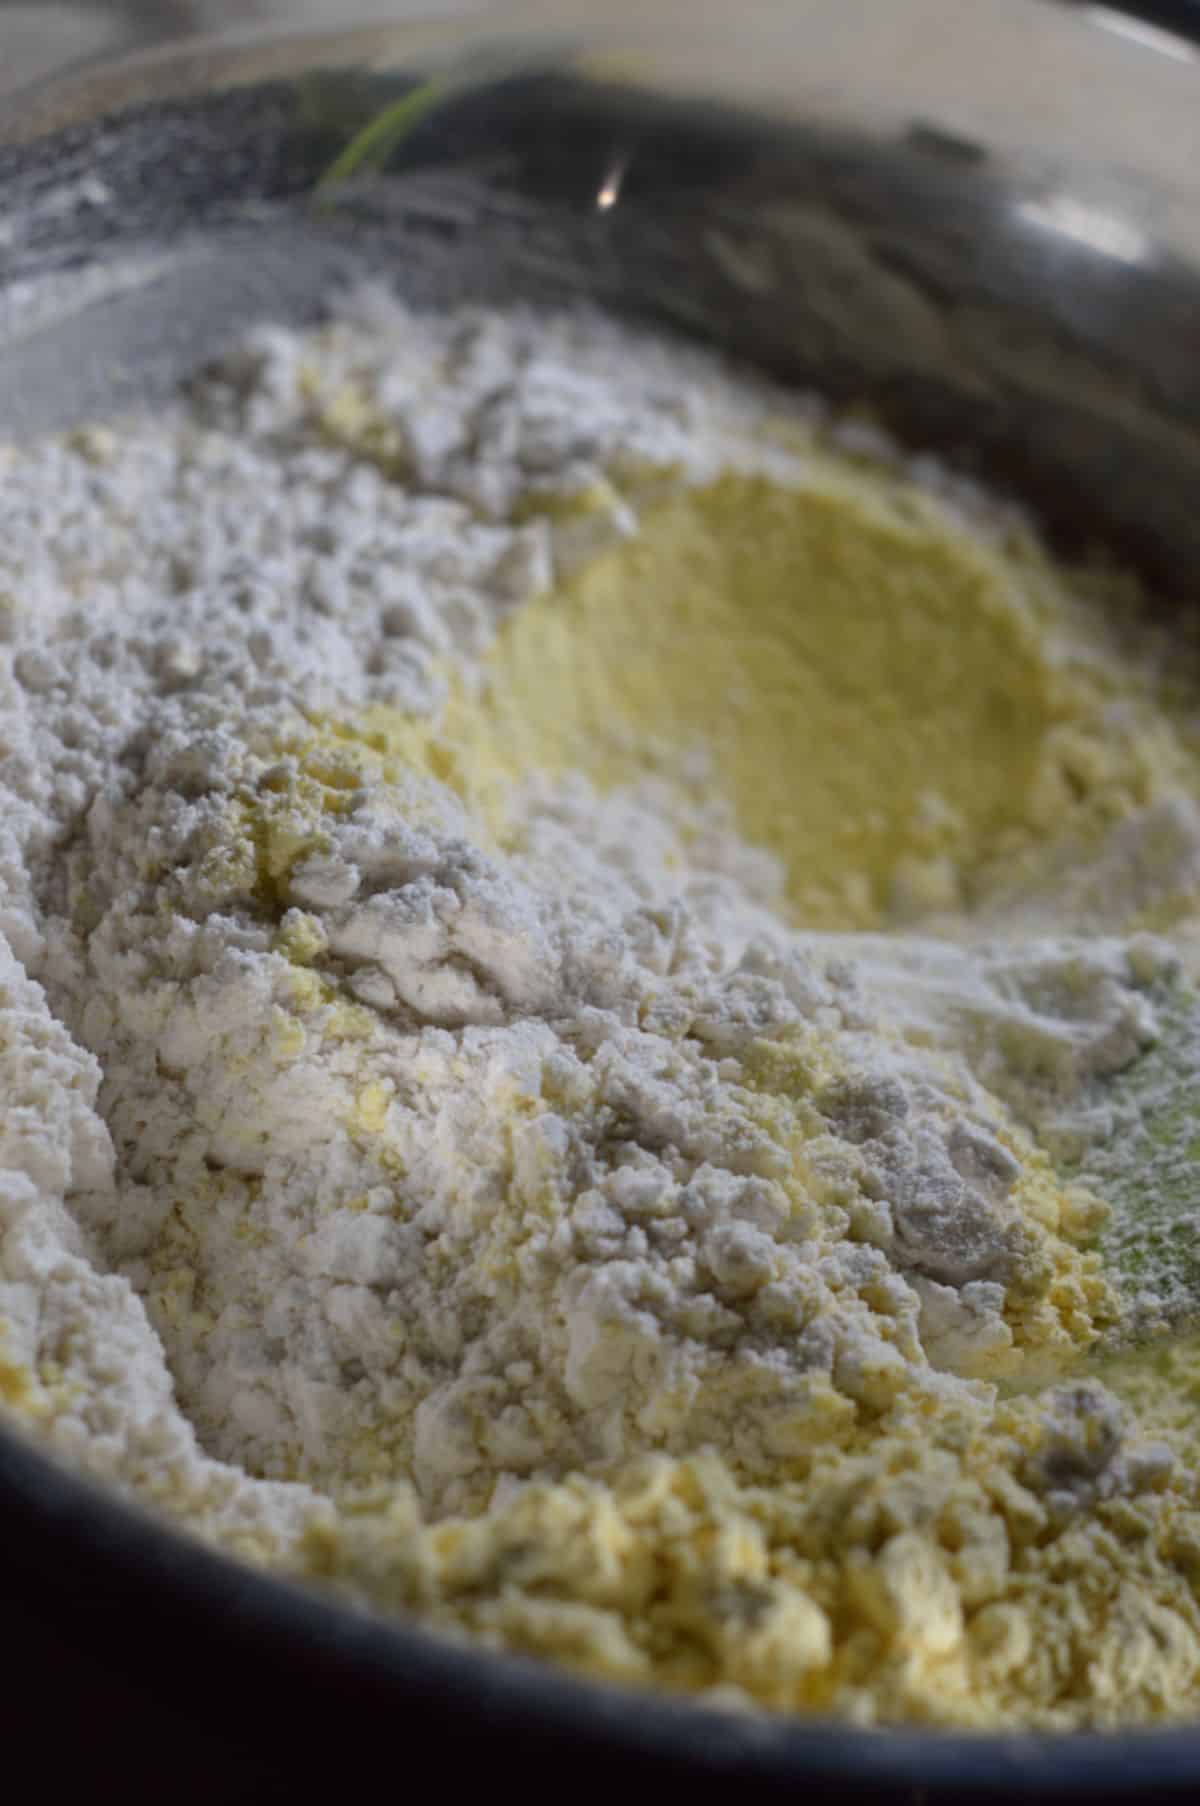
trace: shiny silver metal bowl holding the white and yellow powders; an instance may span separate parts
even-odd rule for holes
[[[401,143],[323,181],[428,81]],[[1162,23],[1063,0],[530,0],[186,45],[0,116],[5,437],[164,394],[237,327],[314,318],[363,275],[428,305],[586,294],[667,321],[867,401],[1063,545],[1195,600],[1200,52]],[[219,1559],[14,1430],[0,1550],[5,1611],[67,1663],[58,1696],[103,1672],[154,1699],[197,1773],[220,1737],[293,1788],[403,1752],[439,1786],[526,1792],[1200,1795],[1200,1727],[860,1732],[450,1645]]]

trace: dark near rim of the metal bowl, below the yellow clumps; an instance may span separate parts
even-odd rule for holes
[[[1200,1725],[1104,1732],[963,1732],[858,1728],[840,1719],[725,1710],[687,1698],[633,1692],[571,1676],[549,1663],[459,1643],[419,1622],[376,1616],[316,1587],[208,1548],[98,1481],[76,1474],[27,1436],[0,1423],[0,1541],[22,1551],[22,1591],[38,1587],[70,1606],[80,1584],[145,1636],[134,1680],[177,1708],[197,1708],[193,1665],[204,1665],[206,1708],[231,1732],[352,1727],[356,1748],[396,1737],[396,1708],[421,1710],[427,1732],[450,1721],[457,1736],[528,1739],[573,1764],[640,1763],[643,1772],[766,1790],[820,1783],[822,1799],[1001,1801],[1017,1793],[1055,1801],[1196,1797]],[[83,1569],[63,1566],[74,1551]],[[108,1624],[101,1616],[101,1625]],[[235,1636],[230,1634],[235,1625]],[[127,1652],[128,1662],[128,1652]],[[273,1694],[269,1681],[286,1683]],[[253,1699],[246,1687],[253,1683]],[[385,1710],[390,1707],[392,1710]],[[473,1723],[472,1723],[473,1718]],[[300,1737],[296,1755],[320,1764],[323,1745]],[[475,1752],[477,1754],[477,1752]],[[849,1790],[849,1792],[846,1792]],[[864,1792],[867,1790],[867,1792]],[[759,1793],[759,1797],[764,1797]]]

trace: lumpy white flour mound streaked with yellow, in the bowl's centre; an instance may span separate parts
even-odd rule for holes
[[[1064,1335],[1052,1282],[1086,1309],[1019,1131],[645,805],[488,856],[443,786],[351,775],[168,740],[72,854],[121,1172],[76,1210],[215,1456],[432,1510],[651,1448],[766,1472],[815,1389],[934,1398]]]

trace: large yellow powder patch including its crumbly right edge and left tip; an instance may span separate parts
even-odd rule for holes
[[[833,462],[795,489],[727,475],[649,506],[511,616],[481,695],[454,684],[432,728],[378,708],[352,731],[501,838],[515,778],[656,773],[727,804],[820,928],[969,905],[1187,775],[1032,547],[990,549]]]

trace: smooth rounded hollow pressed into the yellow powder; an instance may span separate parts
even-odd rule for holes
[[[1027,820],[1068,697],[980,549],[855,489],[725,477],[520,610],[488,697],[513,764],[602,784],[698,753],[799,912],[889,907],[904,858],[969,867]],[[703,769],[707,768],[707,769]]]

